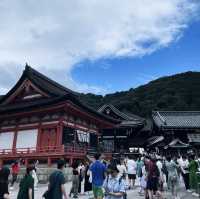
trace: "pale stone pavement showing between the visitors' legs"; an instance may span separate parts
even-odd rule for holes
[[[65,185],[67,193],[69,193],[71,183],[66,183]],[[35,199],[42,199],[42,194],[45,192],[47,189],[47,185],[39,185],[38,189],[35,191]],[[138,194],[139,188],[136,187],[134,190],[130,190],[127,192],[128,194],[128,199],[144,199],[144,196],[139,196]],[[16,199],[17,198],[17,192],[18,192],[18,185],[16,185],[15,189],[11,191],[11,199]],[[80,199],[90,199],[92,194],[90,195],[81,195],[79,198]],[[198,197],[193,197],[191,193],[187,193],[183,187],[180,188],[179,190],[179,197],[181,199],[197,199]],[[171,195],[169,192],[165,192],[165,198],[167,199],[172,199]]]

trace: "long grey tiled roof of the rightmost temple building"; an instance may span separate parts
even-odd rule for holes
[[[200,111],[153,111],[159,128],[200,128]]]

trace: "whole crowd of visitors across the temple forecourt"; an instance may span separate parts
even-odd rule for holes
[[[194,194],[198,189],[199,160],[195,155],[179,157],[161,157],[156,154],[112,158],[106,161],[101,154],[95,159],[74,162],[72,166],[72,186],[70,193],[65,190],[63,169],[65,161],[59,160],[57,169],[50,175],[48,188],[41,196],[45,199],[78,198],[83,192],[93,194],[94,199],[126,199],[127,190],[139,186],[139,196],[145,199],[154,197],[163,199],[164,192],[171,193],[172,199],[178,199],[178,188],[183,181],[185,189]],[[26,168],[19,183],[17,199],[34,199],[37,189],[37,163]],[[0,169],[0,199],[9,199],[20,171],[20,162],[12,164],[11,169]],[[12,180],[9,182],[9,176]],[[137,181],[137,185],[136,185]],[[82,183],[84,182],[84,186]],[[139,184],[138,184],[139,182]],[[84,187],[84,190],[81,188]]]

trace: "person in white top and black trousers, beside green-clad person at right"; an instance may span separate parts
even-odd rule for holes
[[[182,174],[182,177],[183,177],[185,188],[189,192],[190,191],[190,186],[189,186],[189,170],[188,170],[189,161],[186,158],[186,156],[182,157],[182,161],[179,164],[180,164],[181,174]]]

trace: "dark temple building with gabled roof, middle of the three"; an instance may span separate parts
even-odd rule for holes
[[[104,151],[127,153],[145,147],[151,132],[151,129],[147,129],[146,119],[122,112],[111,104],[103,105],[98,112],[120,121],[114,128],[102,130]]]

